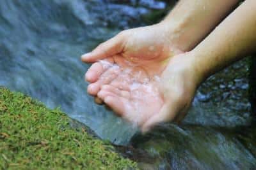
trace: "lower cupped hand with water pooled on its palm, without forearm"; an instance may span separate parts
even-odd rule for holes
[[[126,67],[98,93],[116,114],[147,132],[161,122],[180,122],[201,79],[189,53],[170,59],[160,77]]]

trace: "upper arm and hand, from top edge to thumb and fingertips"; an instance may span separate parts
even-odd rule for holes
[[[117,64],[129,60],[146,67],[150,73],[161,73],[164,60],[194,48],[237,2],[182,0],[159,24],[122,31],[100,44],[91,53],[81,57],[84,62],[95,62],[86,73],[86,81],[92,83],[88,86],[88,93],[97,96],[100,87],[115,78],[113,74],[116,73],[104,69],[98,60],[107,59]],[[116,55],[119,60],[115,60]],[[104,77],[109,74],[110,78],[100,80],[102,73]]]

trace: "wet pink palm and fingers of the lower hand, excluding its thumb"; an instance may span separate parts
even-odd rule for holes
[[[163,98],[158,90],[158,76],[150,76],[147,69],[132,66],[126,61],[118,69],[115,80],[103,85],[97,96],[110,106],[115,113],[136,125],[143,125],[148,118],[159,113]],[[106,64],[106,63],[104,63]],[[109,68],[111,69],[111,68]],[[101,79],[106,77],[101,76]]]

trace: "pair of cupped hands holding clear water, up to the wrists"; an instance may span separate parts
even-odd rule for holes
[[[195,81],[188,57],[171,59],[182,52],[167,37],[157,25],[131,29],[82,57],[84,62],[95,62],[86,73],[88,93],[142,131],[181,120],[196,89],[189,83],[185,87],[187,81]]]

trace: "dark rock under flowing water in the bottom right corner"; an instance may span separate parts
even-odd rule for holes
[[[256,126],[159,125],[119,150],[140,169],[255,169]]]

